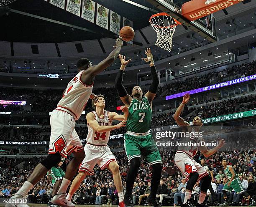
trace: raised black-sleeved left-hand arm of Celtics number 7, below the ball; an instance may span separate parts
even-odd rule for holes
[[[120,70],[118,71],[118,74],[115,78],[115,88],[117,89],[119,97],[120,97],[121,101],[123,101],[123,104],[125,104],[125,106],[129,107],[133,98],[127,94],[127,91],[125,90],[125,87],[123,86],[123,73],[124,73],[124,70],[125,70],[125,67],[127,66],[127,64],[132,60],[130,59],[130,60],[126,61],[125,56],[123,56],[123,55],[119,55],[119,58],[121,61],[121,67],[120,67]]]

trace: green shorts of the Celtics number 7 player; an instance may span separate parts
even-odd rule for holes
[[[124,134],[124,147],[129,162],[134,157],[141,157],[142,155],[149,165],[162,163],[159,150],[151,133],[145,136]]]

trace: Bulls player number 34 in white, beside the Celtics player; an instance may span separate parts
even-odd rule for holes
[[[121,110],[124,112],[123,115],[106,111],[105,98],[102,95],[97,96],[97,100],[92,101],[92,107],[95,111],[88,113],[86,116],[88,126],[87,143],[84,146],[86,157],[80,164],[79,174],[72,182],[67,199],[69,201],[71,200],[74,192],[76,192],[84,178],[87,175],[94,174],[93,168],[98,164],[101,170],[108,168],[110,172],[112,172],[114,183],[118,191],[119,207],[124,207],[119,166],[107,143],[110,131],[125,126],[125,121],[129,114],[128,108],[121,106]],[[112,125],[113,120],[119,120],[121,122],[117,125]]]

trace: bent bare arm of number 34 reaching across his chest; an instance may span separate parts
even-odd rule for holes
[[[113,126],[100,126],[99,123],[95,120],[95,117],[92,113],[88,113],[86,115],[86,119],[90,124],[90,126],[92,127],[92,129],[94,129],[97,132],[112,131],[114,129],[119,129],[125,126],[126,124],[125,121],[121,121],[119,124],[113,125]]]

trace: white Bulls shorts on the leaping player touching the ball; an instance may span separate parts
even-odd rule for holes
[[[67,157],[73,151],[83,150],[83,145],[74,129],[76,121],[72,115],[55,109],[51,113],[50,124],[49,154],[59,151],[61,156]]]

